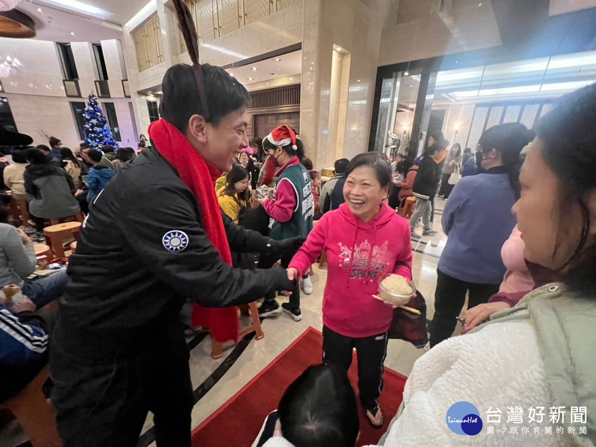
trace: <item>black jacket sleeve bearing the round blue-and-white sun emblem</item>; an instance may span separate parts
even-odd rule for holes
[[[173,291],[202,306],[219,308],[291,290],[293,282],[283,269],[249,271],[223,263],[188,197],[166,185],[150,190],[126,194],[130,199],[117,224],[145,268]],[[170,236],[178,238],[175,247],[167,243]]]

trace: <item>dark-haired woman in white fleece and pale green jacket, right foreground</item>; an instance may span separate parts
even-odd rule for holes
[[[542,117],[522,167],[522,197],[513,207],[524,257],[560,272],[563,283],[532,291],[418,359],[380,445],[596,444],[595,120],[596,84],[564,96]],[[459,401],[479,411],[483,427],[475,436],[451,432],[446,424],[449,407]],[[508,422],[513,406],[523,409],[520,424]],[[582,406],[585,419],[573,422],[572,407],[577,414]],[[551,407],[564,407],[563,420],[551,422]],[[488,421],[489,409],[501,412],[500,423]]]

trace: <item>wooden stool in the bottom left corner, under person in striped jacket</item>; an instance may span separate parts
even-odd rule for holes
[[[45,367],[16,396],[0,403],[0,409],[10,410],[21,424],[33,447],[60,447],[54,411],[46,401],[42,386],[49,377]]]

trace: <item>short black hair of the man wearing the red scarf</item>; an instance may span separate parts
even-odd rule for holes
[[[211,115],[209,122],[218,126],[227,114],[247,108],[250,95],[235,77],[221,67],[211,64],[202,64],[202,67],[207,106]],[[159,113],[182,133],[186,131],[191,116],[203,116],[197,81],[190,65],[176,64],[167,69],[162,81],[162,92]]]

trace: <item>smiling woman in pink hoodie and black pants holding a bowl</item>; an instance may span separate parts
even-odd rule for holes
[[[373,295],[384,274],[412,279],[408,221],[383,203],[390,181],[389,163],[377,154],[354,157],[346,170],[346,203],[322,216],[288,268],[289,278],[300,278],[327,252],[323,360],[347,373],[356,348],[360,399],[375,428],[383,426],[378,397],[393,309]]]

